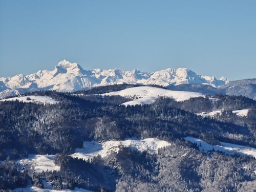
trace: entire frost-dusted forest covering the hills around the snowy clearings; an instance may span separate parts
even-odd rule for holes
[[[119,90],[120,86],[108,87],[108,92]],[[122,191],[128,186],[130,191],[243,191],[255,186],[253,157],[226,156],[216,150],[207,155],[184,138],[198,138],[212,146],[226,142],[255,148],[256,101],[227,95],[181,102],[159,97],[152,104],[124,106],[122,103],[133,98],[91,93],[100,93],[100,88],[76,93],[41,91],[24,96],[26,102],[0,102],[0,160],[5,160],[0,167],[0,188],[26,186],[29,180],[38,186],[46,180],[56,183],[53,187],[57,189],[82,187],[93,191]],[[29,102],[32,96],[47,96],[56,102]],[[249,109],[246,116],[233,112],[243,109]],[[214,110],[223,111],[214,117],[198,115]],[[123,147],[91,162],[69,156],[82,148],[83,141],[125,138],[158,138],[171,147],[162,148],[158,154]],[[29,154],[60,154],[54,161],[60,170],[33,175],[12,164],[12,160],[28,158]],[[97,171],[101,177],[93,174]],[[18,180],[12,180],[14,176]],[[226,179],[219,178],[223,176]],[[107,182],[104,178],[111,179]]]

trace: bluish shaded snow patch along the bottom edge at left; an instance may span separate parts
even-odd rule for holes
[[[83,189],[75,187],[74,190],[64,189],[64,190],[54,190],[51,183],[47,182],[46,180],[42,180],[42,184],[44,184],[44,188],[38,188],[33,186],[32,184],[28,185],[24,188],[15,188],[13,191],[24,191],[24,192],[30,192],[30,191],[36,191],[36,192],[71,192],[71,191],[77,191],[77,192],[93,192],[91,190]]]

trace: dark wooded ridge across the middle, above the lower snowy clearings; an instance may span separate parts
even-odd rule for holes
[[[247,126],[197,116],[172,106],[173,101],[168,99],[151,105],[125,107],[113,104],[112,97],[104,97],[105,102],[100,102],[100,96],[80,98],[55,92],[45,94],[61,102],[54,105],[1,103],[3,158],[8,156],[8,150],[13,154],[17,151],[24,154],[71,153],[82,146],[83,140],[134,136],[173,140],[190,135],[209,143],[255,144],[253,130]],[[99,98],[98,101],[95,98]],[[241,139],[229,138],[228,134],[241,135]]]

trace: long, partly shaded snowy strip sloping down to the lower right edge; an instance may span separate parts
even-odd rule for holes
[[[211,151],[214,148],[215,151],[223,152],[227,155],[234,155],[235,153],[240,155],[250,155],[256,158],[256,149],[252,147],[246,147],[243,145],[231,144],[221,142],[221,145],[211,145],[202,141],[201,139],[197,139],[195,137],[185,137],[186,141],[190,141],[192,143],[197,143],[200,151]]]

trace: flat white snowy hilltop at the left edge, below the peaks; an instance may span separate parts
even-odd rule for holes
[[[20,101],[20,102],[26,102],[26,103],[49,103],[49,104],[55,104],[58,101],[55,99],[48,97],[48,96],[35,96],[35,95],[28,95],[28,96],[22,96],[22,97],[12,97],[8,99],[2,99],[0,101]]]

